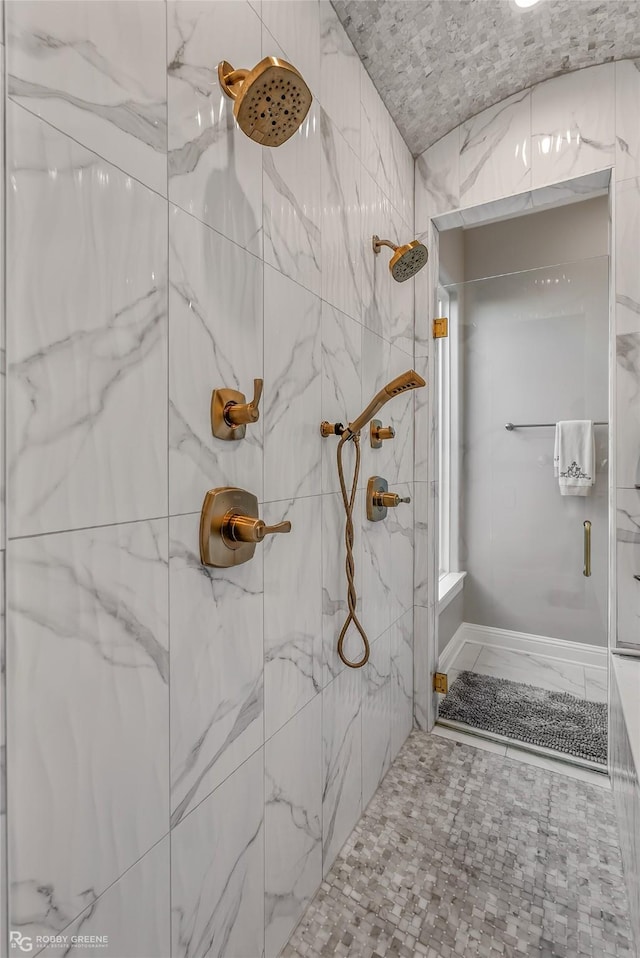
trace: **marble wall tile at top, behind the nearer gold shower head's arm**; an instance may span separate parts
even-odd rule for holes
[[[245,0],[167,4],[169,199],[262,255],[262,149],[237,126],[218,63],[252,69],[262,25]]]

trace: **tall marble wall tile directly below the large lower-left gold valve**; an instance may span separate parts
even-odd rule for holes
[[[199,522],[178,516],[169,530],[174,826],[263,743],[261,556],[203,566]]]

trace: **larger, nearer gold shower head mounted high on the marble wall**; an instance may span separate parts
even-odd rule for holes
[[[265,57],[253,70],[218,64],[220,86],[232,100],[233,115],[248,137],[262,146],[280,146],[309,112],[311,90],[286,60]]]

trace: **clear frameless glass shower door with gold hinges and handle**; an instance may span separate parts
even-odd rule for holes
[[[605,256],[447,287],[459,460],[451,528],[467,573],[463,621],[488,649],[473,671],[582,698],[589,670],[569,663],[607,644],[608,270]],[[561,495],[554,476],[555,424],[566,419],[598,423],[587,496]],[[536,678],[535,657],[509,648],[546,648],[556,662]]]

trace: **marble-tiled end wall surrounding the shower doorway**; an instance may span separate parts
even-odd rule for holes
[[[640,569],[638,490],[640,483],[640,61],[627,60],[580,70],[548,80],[485,110],[455,128],[416,160],[416,230],[436,238],[432,219],[459,211],[459,226],[492,215],[517,214],[531,204],[531,190],[546,189],[553,202],[568,198],[557,183],[611,169],[613,193],[612,257],[615,269],[613,370],[615,403],[614,477],[618,509],[618,563],[615,594],[618,635],[638,642],[638,592],[633,575]],[[482,209],[474,209],[478,204]],[[437,269],[416,282],[416,355],[433,365],[428,318],[434,308]],[[419,360],[417,359],[416,362]],[[432,399],[434,393],[430,391]],[[429,565],[429,502],[437,498],[437,458],[433,442],[434,403],[416,410],[416,685],[415,718],[428,727],[435,703],[429,676],[436,663],[433,634],[437,607],[437,569]],[[424,486],[424,491],[421,487]],[[427,487],[433,495],[427,494]],[[614,503],[615,509],[615,503]],[[418,506],[416,507],[418,512]],[[430,530],[431,531],[431,530]],[[435,530],[433,530],[435,531]],[[435,537],[434,537],[435,539]],[[615,551],[615,550],[614,550]],[[612,578],[612,582],[615,579]],[[613,726],[613,747],[620,723]],[[632,733],[630,733],[632,734]],[[634,733],[635,734],[635,733]],[[640,859],[634,871],[640,873]],[[640,929],[638,929],[640,935]]]

